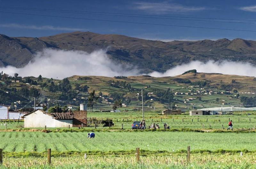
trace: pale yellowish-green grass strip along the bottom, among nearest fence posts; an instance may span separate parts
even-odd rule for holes
[[[236,154],[191,154],[190,164],[186,165],[186,154],[164,156],[141,156],[140,164],[130,156],[88,156],[52,157],[48,166],[46,157],[4,157],[0,169],[35,168],[35,169],[255,169],[256,154],[247,153],[240,157]],[[23,167],[22,167],[23,166]]]

